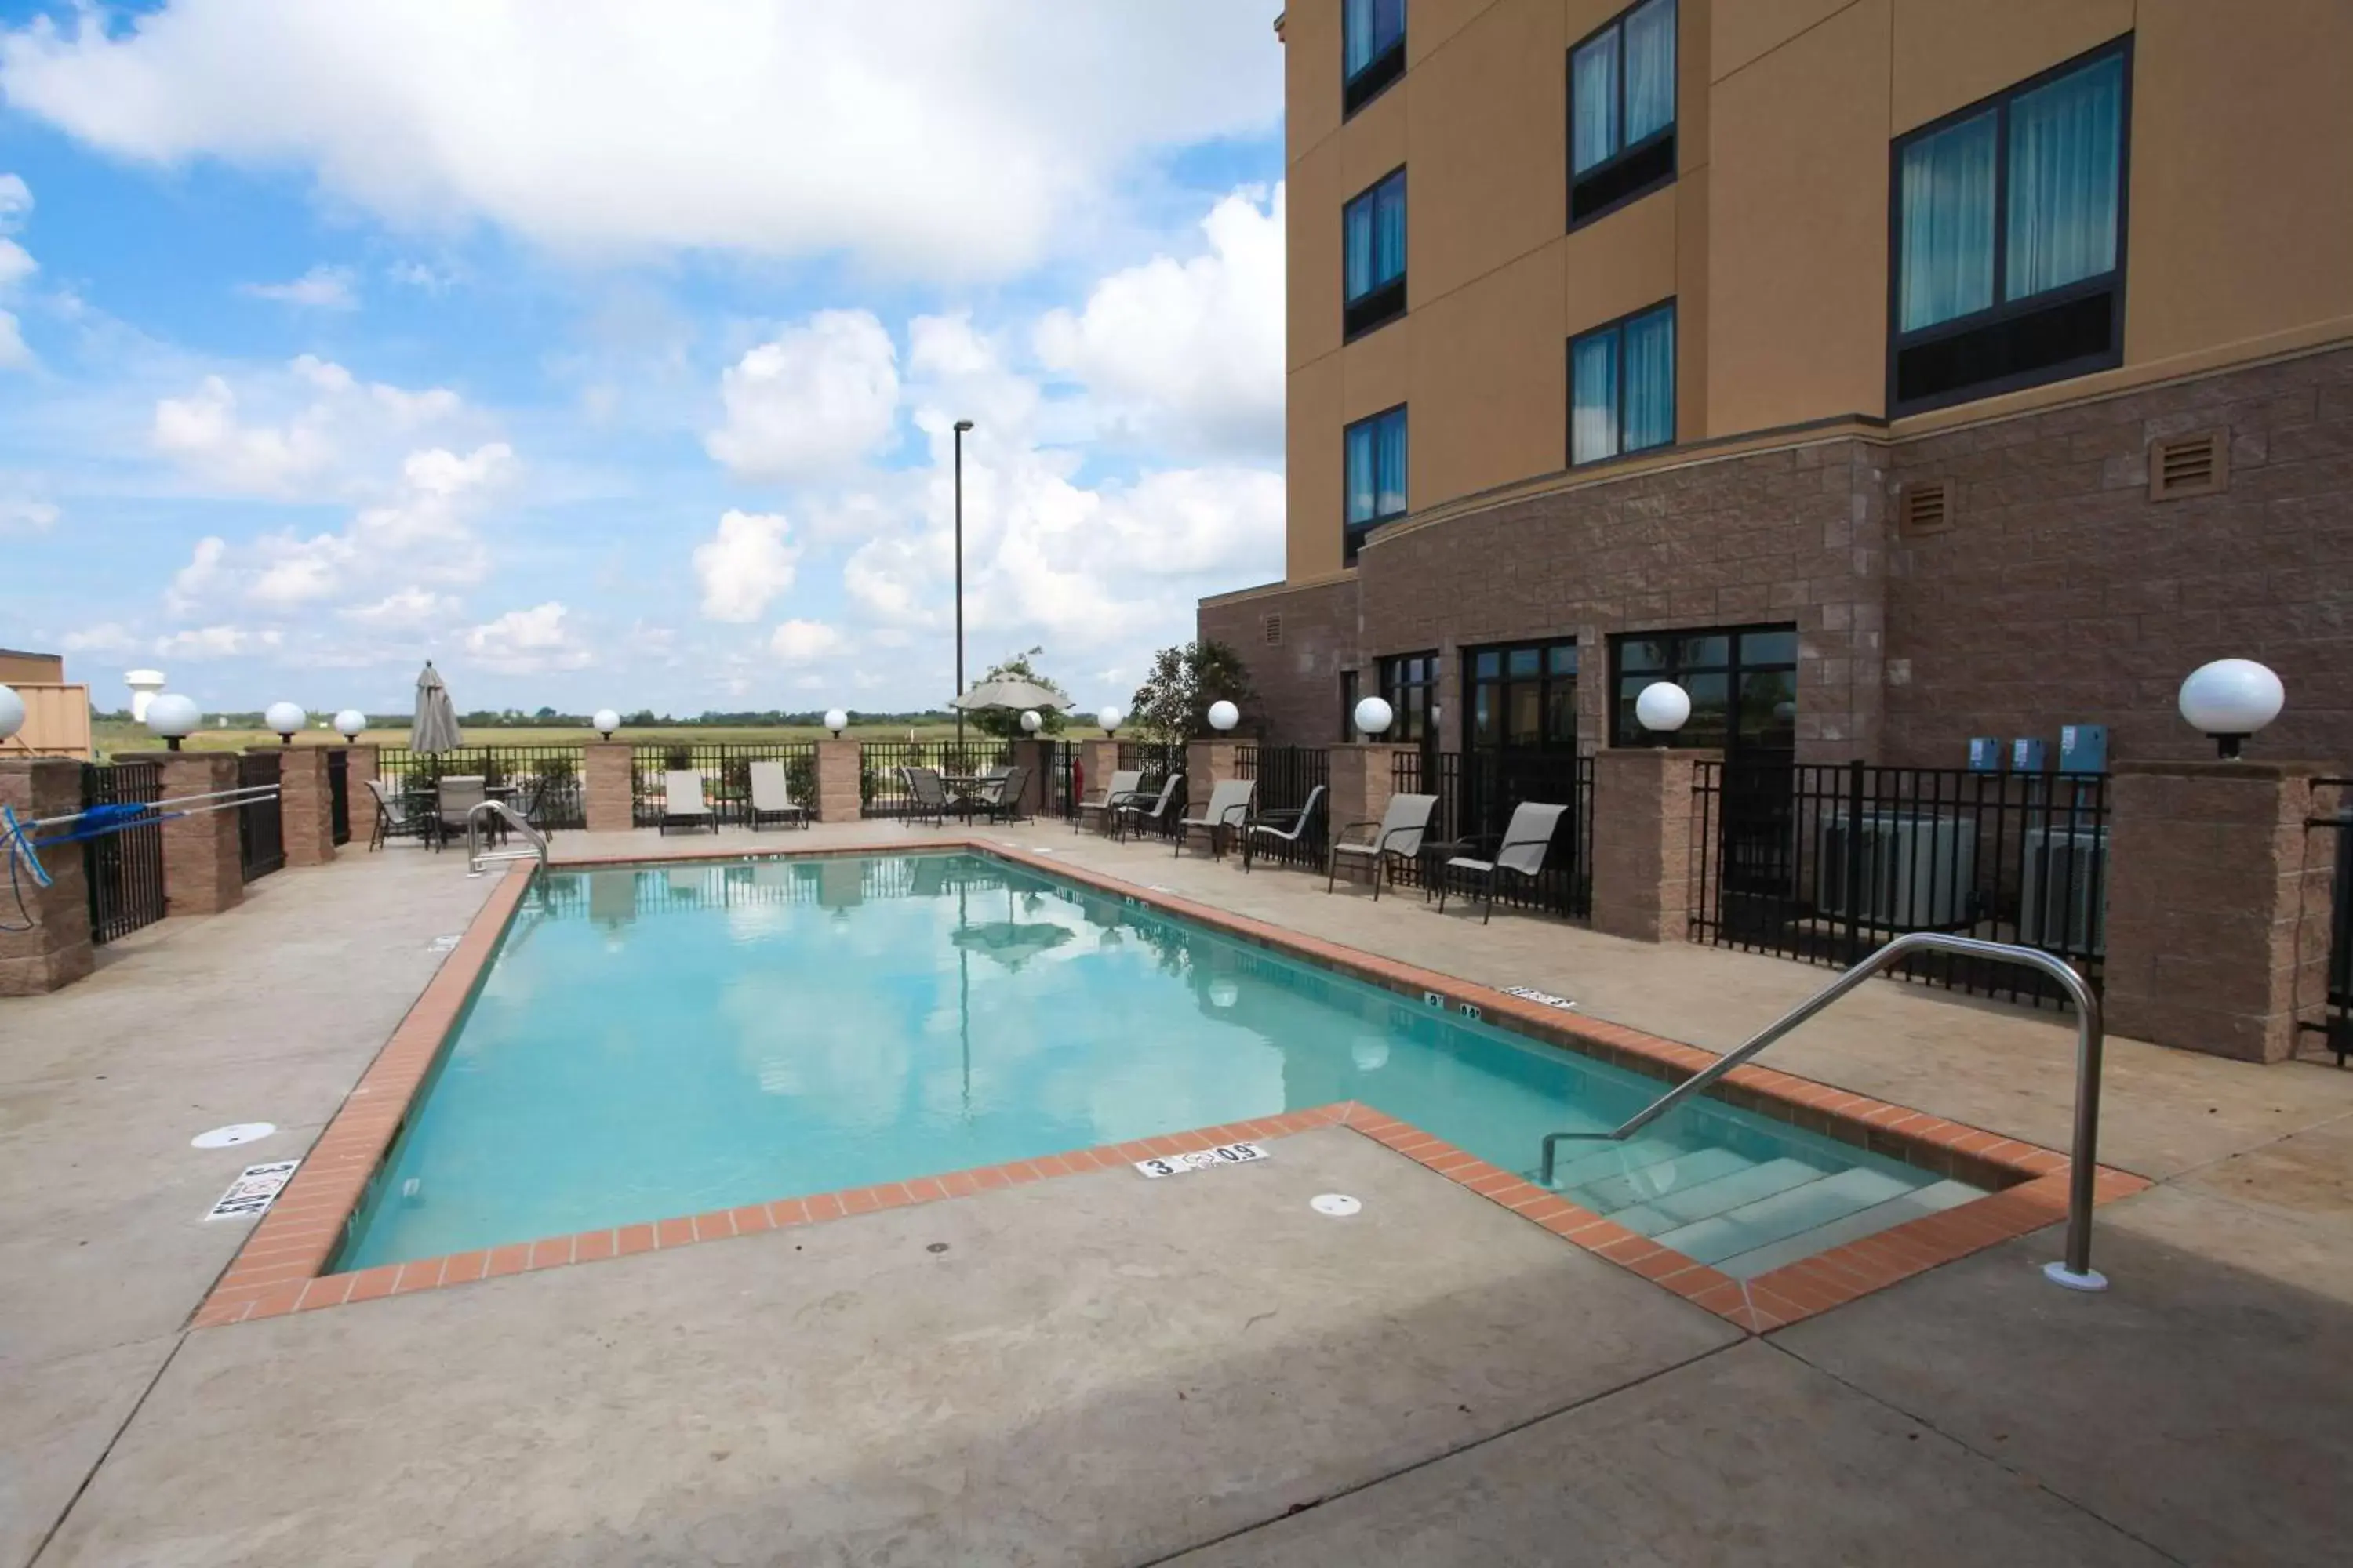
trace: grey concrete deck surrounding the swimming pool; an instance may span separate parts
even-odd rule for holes
[[[1708,1046],[1824,980],[1527,917],[1482,931],[1061,825],[1002,837]],[[711,849],[558,837],[567,858]],[[240,912],[111,950],[82,987],[0,1006],[19,1215],[0,1563],[1537,1563],[1562,1540],[2137,1563],[2332,1561],[2344,1537],[2353,1074],[2129,1041],[2101,1154],[2160,1185],[2101,1208],[2104,1298],[2040,1281],[2045,1232],[1755,1340],[1325,1131],[1240,1171],[1099,1171],[184,1333],[247,1232],[202,1208],[242,1164],[306,1147],[487,889],[409,849],[282,872]],[[2071,1044],[2049,1018],[1885,985],[1774,1060],[2064,1143]],[[186,1147],[238,1119],[287,1131]],[[1365,1215],[1308,1213],[1325,1190]],[[946,1267],[965,1274],[925,1288]]]

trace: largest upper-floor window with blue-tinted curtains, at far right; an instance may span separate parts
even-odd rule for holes
[[[1897,141],[1894,414],[2122,362],[2127,45]]]

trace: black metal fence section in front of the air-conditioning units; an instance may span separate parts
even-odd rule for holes
[[[1955,931],[2042,947],[2097,985],[2106,905],[2106,773],[1697,766],[1692,940],[1847,966],[1904,931]],[[2033,971],[1960,954],[1892,973],[2066,1001]]]

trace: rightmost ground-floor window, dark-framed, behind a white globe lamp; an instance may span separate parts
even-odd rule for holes
[[[1635,632],[1609,639],[1612,745],[1711,745],[1727,755],[1798,750],[1798,628],[1753,625],[1699,632]],[[1652,682],[1675,682],[1692,719],[1673,736],[1642,729],[1633,703]]]

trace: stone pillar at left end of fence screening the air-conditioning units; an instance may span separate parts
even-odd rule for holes
[[[1593,757],[1593,929],[1680,943],[1692,905],[1692,773],[1722,752],[1664,745]]]

